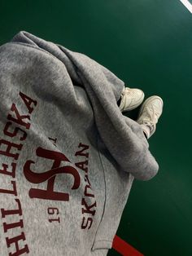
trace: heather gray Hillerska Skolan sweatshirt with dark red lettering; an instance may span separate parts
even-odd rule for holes
[[[0,255],[104,256],[158,164],[88,56],[21,31],[0,47]]]

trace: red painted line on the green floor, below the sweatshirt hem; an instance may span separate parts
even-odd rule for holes
[[[137,249],[134,249],[133,246],[129,245],[119,236],[115,236],[112,248],[116,249],[116,251],[123,256],[144,256],[139,251],[137,251]]]

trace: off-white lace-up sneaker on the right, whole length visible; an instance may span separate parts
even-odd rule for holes
[[[137,123],[142,126],[147,139],[155,133],[156,123],[163,112],[164,102],[159,96],[151,96],[145,100],[138,113]]]

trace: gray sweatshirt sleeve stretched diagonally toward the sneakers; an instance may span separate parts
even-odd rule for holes
[[[63,46],[61,49],[76,66],[94,110],[98,133],[120,169],[135,179],[153,178],[159,165],[149,150],[142,127],[125,117],[116,104],[124,82],[88,56],[68,51]]]

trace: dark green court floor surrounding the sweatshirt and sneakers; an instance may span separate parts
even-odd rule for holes
[[[191,256],[190,11],[179,0],[1,0],[0,21],[0,44],[28,31],[89,55],[146,97],[164,99],[149,140],[159,174],[133,183],[117,235],[145,256]]]

